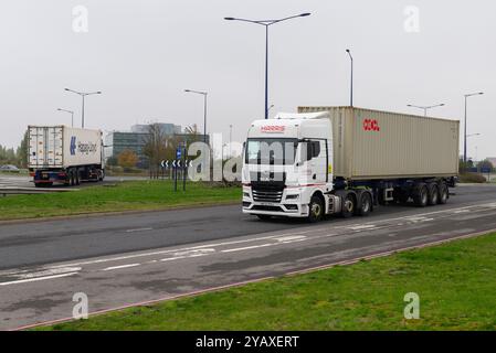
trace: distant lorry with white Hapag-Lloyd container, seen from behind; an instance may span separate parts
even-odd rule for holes
[[[103,181],[102,131],[66,126],[30,126],[28,164],[35,186]]]

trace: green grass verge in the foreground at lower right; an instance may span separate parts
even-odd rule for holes
[[[495,255],[492,234],[41,330],[495,330]]]

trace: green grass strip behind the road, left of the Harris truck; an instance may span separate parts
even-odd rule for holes
[[[0,197],[0,221],[99,212],[162,210],[241,202],[241,189],[189,182],[187,191],[170,181],[129,181],[74,192]]]

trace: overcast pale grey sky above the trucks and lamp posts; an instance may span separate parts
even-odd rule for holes
[[[88,10],[88,32],[74,32],[73,8]],[[419,9],[419,32],[407,21]],[[350,47],[355,105],[422,114],[407,104],[445,103],[433,116],[462,119],[469,98],[468,154],[496,157],[496,2],[492,0],[3,0],[0,11],[0,145],[17,146],[28,125],[70,124],[56,108],[103,90],[86,104],[86,126],[125,130],[147,120],[242,140],[263,117],[264,29],[226,15],[312,17],[271,28],[270,100],[276,111],[298,105],[348,105]],[[405,21],[407,29],[405,30]]]

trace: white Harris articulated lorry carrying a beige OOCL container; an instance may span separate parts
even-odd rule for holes
[[[243,213],[368,215],[444,204],[458,174],[460,121],[355,107],[299,107],[256,120],[244,145]]]

